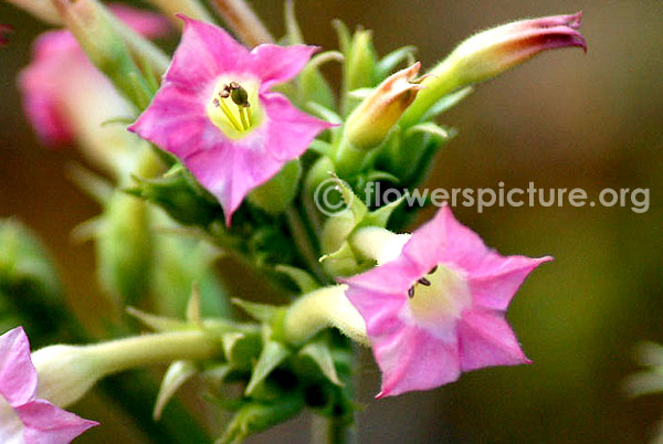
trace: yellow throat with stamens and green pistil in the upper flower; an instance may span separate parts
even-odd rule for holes
[[[220,78],[207,105],[208,117],[231,139],[246,136],[263,118],[257,89],[255,81]]]

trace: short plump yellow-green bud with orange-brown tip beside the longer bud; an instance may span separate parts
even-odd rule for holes
[[[380,145],[406,109],[414,102],[424,77],[415,78],[421,68],[417,62],[385,80],[348,117],[345,135],[357,149]]]

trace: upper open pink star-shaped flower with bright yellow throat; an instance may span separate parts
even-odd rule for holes
[[[332,126],[270,92],[297,75],[316,47],[249,51],[214,25],[180,18],[182,40],[161,88],[129,130],[176,155],[217,197],[230,224],[252,189]]]

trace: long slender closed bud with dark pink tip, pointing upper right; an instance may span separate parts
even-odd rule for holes
[[[569,46],[587,51],[578,32],[581,14],[520,20],[465,40],[429,73],[422,83],[425,89],[403,115],[402,126],[414,125],[445,95],[502,74],[541,51]]]

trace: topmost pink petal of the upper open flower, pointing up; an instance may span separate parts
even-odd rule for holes
[[[178,14],[185,21],[166,80],[199,91],[221,73],[238,72],[249,51],[221,28]]]

